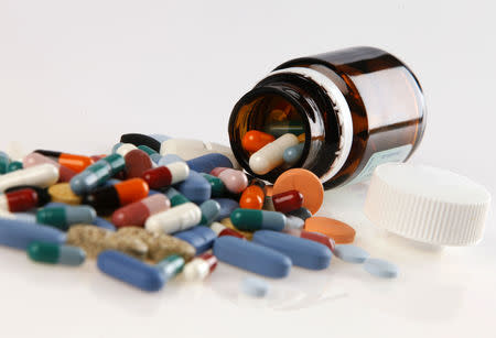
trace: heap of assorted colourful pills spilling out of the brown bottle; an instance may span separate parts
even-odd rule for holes
[[[301,128],[279,124],[244,140],[263,171],[280,163],[270,149],[292,142],[279,140],[299,144],[283,130]],[[281,279],[293,265],[327,269],[336,255],[377,276],[397,275],[393,264],[349,244],[352,227],[313,216],[324,195],[313,173],[288,170],[269,186],[216,143],[134,133],[106,155],[36,150],[18,162],[0,152],[0,244],[51,264],[96,259],[105,274],[144,291],[179,274],[202,281],[218,261]],[[248,294],[266,288],[242,282]]]

